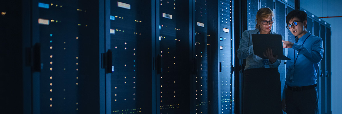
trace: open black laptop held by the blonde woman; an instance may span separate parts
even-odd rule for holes
[[[254,54],[262,59],[267,59],[264,56],[264,52],[267,50],[267,48],[271,48],[273,55],[278,55],[277,59],[291,60],[290,58],[284,55],[281,35],[252,34],[252,42]]]

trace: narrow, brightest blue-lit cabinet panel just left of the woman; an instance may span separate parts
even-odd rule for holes
[[[233,114],[234,113],[234,72],[232,67],[234,66],[234,44],[233,44],[233,1],[221,0],[219,2],[220,7],[220,24],[219,24],[219,63],[221,71],[219,71],[219,102],[221,106],[220,114]],[[222,41],[221,41],[222,37]],[[221,49],[222,48],[222,49]]]

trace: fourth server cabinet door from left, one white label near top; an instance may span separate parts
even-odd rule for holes
[[[186,114],[192,110],[190,3],[190,0],[158,0],[156,52],[161,58],[161,69],[157,77],[157,114]]]

